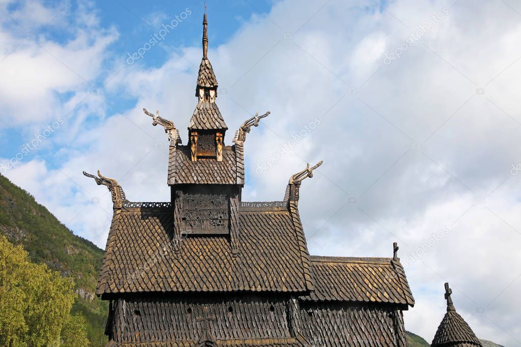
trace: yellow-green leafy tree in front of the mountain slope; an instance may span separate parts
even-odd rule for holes
[[[71,316],[70,278],[32,263],[21,246],[0,236],[0,345],[85,346],[85,322]]]

